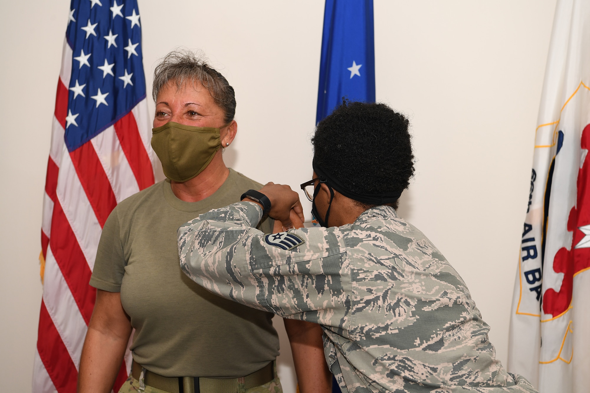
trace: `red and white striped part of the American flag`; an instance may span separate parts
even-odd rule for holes
[[[146,99],[73,152],[65,142],[72,50],[64,40],[41,225],[45,258],[32,391],[76,391],[80,354],[94,307],[89,285],[104,222],[116,204],[154,183]],[[130,352],[114,390],[131,367]]]

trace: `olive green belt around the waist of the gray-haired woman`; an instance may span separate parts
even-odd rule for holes
[[[143,383],[146,386],[160,389],[170,393],[238,393],[240,384],[245,389],[255,388],[264,385],[274,379],[274,362],[252,374],[241,378],[205,378],[198,376],[169,377],[145,370]],[[142,366],[133,362],[131,375],[139,381]]]

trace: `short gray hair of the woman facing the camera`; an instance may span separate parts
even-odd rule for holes
[[[226,124],[234,119],[234,88],[224,76],[207,64],[207,59],[202,53],[174,50],[167,54],[153,71],[153,100],[158,98],[158,93],[165,84],[174,83],[181,87],[187,82],[199,82],[209,90],[215,104],[224,111]]]

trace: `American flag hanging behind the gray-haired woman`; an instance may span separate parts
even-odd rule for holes
[[[154,182],[141,30],[136,0],[71,2],[45,181],[33,392],[76,391],[102,227]],[[130,361],[127,351],[115,391]]]

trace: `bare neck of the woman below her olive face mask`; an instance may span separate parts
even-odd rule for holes
[[[211,196],[224,184],[230,170],[227,169],[219,149],[207,168],[194,178],[185,182],[171,180],[170,185],[176,198],[185,202],[198,202]]]

